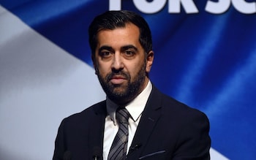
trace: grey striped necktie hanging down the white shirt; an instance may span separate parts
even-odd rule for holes
[[[125,108],[116,110],[116,120],[119,125],[118,132],[113,140],[108,160],[123,160],[127,155],[129,112]]]

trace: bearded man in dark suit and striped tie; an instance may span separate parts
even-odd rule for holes
[[[148,78],[154,52],[146,20],[105,12],[89,26],[89,43],[107,98],[61,122],[53,159],[210,159],[206,115]]]

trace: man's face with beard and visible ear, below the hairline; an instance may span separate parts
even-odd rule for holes
[[[130,102],[148,83],[154,53],[145,54],[139,35],[139,28],[130,23],[97,34],[94,67],[103,90],[118,104]]]

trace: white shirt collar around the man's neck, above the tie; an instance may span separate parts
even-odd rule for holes
[[[146,85],[146,88],[143,89],[143,91],[132,100],[132,102],[129,102],[127,106],[125,106],[129,112],[129,114],[132,116],[133,121],[137,121],[140,117],[141,113],[143,112],[146,102],[148,101],[148,97],[152,90],[152,84],[151,81],[148,80],[148,84]],[[118,108],[118,105],[108,99],[107,97],[107,112],[108,115],[110,115],[111,120],[116,125],[116,109]]]

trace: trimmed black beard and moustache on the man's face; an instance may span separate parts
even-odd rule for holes
[[[143,83],[146,80],[146,64],[143,65],[132,82],[130,75],[122,70],[118,72],[110,72],[106,77],[101,77],[99,73],[97,75],[99,83],[102,85],[102,88],[109,99],[117,104],[127,104],[132,101],[132,99],[135,99],[135,97],[142,91]],[[127,85],[113,85],[110,83],[110,79],[114,75],[121,75],[125,77],[128,80]],[[116,91],[118,88],[123,89],[123,91]]]

